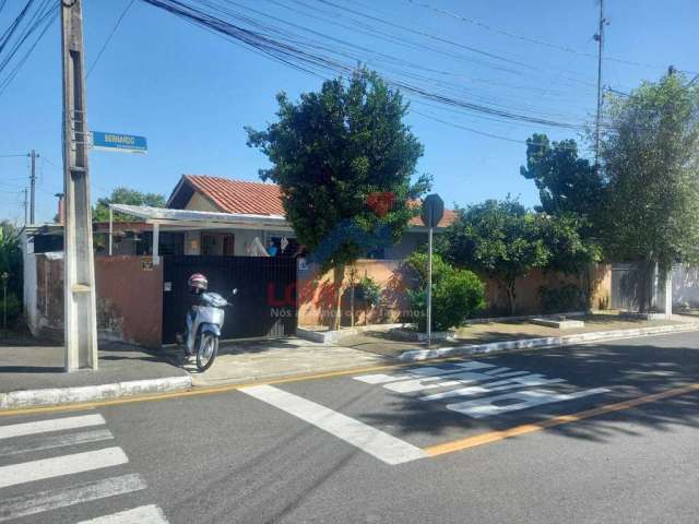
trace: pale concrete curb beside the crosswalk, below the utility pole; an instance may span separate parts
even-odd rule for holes
[[[191,376],[166,377],[164,379],[131,380],[100,385],[75,388],[51,388],[45,390],[20,390],[0,393],[0,409],[54,406],[80,402],[110,401],[122,396],[150,395],[173,391],[185,391],[192,386]]]

